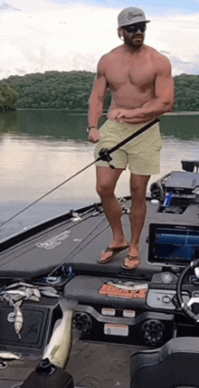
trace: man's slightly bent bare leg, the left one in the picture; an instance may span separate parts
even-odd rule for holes
[[[127,246],[127,240],[121,223],[122,209],[114,194],[118,178],[122,171],[122,168],[111,169],[110,167],[97,167],[97,192],[100,195],[104,212],[113,232],[113,241],[109,244],[109,247],[116,248]],[[107,260],[111,254],[110,251],[103,252],[100,260]]]

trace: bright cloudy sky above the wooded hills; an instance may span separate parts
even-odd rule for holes
[[[166,55],[173,75],[199,74],[199,0],[0,0],[0,80],[95,72],[100,57],[122,43],[117,18],[131,5],[147,14],[145,43]]]

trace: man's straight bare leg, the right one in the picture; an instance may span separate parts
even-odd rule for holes
[[[130,176],[130,191],[132,199],[130,223],[132,240],[128,252],[129,256],[125,260],[125,267],[128,268],[137,268],[139,265],[139,241],[147,215],[146,194],[149,178],[150,175],[132,174]]]

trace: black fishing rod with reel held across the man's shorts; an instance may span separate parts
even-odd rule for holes
[[[6,220],[5,222],[1,222],[0,223],[0,227],[5,225],[5,223],[7,222],[10,222],[12,220],[14,220],[15,217],[17,217],[18,215],[24,213],[26,210],[28,210],[30,207],[32,207],[35,203],[38,203],[39,201],[43,200],[43,198],[45,198],[47,195],[49,194],[52,194],[55,190],[57,190],[58,188],[60,188],[62,185],[65,185],[67,184],[69,181],[71,181],[71,179],[73,179],[74,177],[76,177],[77,175],[80,175],[83,171],[87,170],[90,166],[93,166],[96,162],[99,162],[100,160],[103,160],[103,161],[106,161],[109,163],[109,166],[111,168],[115,168],[114,166],[110,165],[110,161],[112,160],[110,154],[112,154],[113,152],[117,151],[117,149],[119,147],[122,147],[124,146],[125,144],[128,143],[128,141],[132,140],[133,138],[137,137],[138,135],[142,134],[143,132],[147,131],[148,128],[151,128],[152,126],[154,126],[157,122],[159,122],[159,118],[155,118],[153,121],[150,121],[149,123],[147,123],[144,127],[140,128],[137,130],[137,132],[133,133],[132,135],[126,137],[124,140],[122,140],[120,143],[118,143],[116,146],[108,149],[108,148],[102,148],[100,149],[100,153],[99,153],[99,157],[94,160],[92,163],[90,163],[90,165],[88,166],[85,166],[83,168],[81,168],[80,171],[78,171],[77,173],[71,175],[68,179],[66,179],[65,181],[63,181],[60,185],[57,185],[55,186],[54,188],[52,188],[52,190],[50,190],[48,193],[46,194],[43,194],[41,197],[39,197],[38,199],[36,199],[33,203],[30,203],[28,206],[24,207],[24,209],[22,209],[20,212],[18,213],[15,213],[12,217],[10,217],[8,220]]]

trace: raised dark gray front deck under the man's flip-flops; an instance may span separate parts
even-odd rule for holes
[[[130,201],[124,203],[124,209],[129,212]],[[149,203],[149,213],[154,212]],[[130,225],[128,213],[123,215],[123,225],[130,240]],[[55,273],[55,268],[71,267],[71,270],[109,274],[112,276],[126,276],[127,270],[121,268],[127,251],[117,254],[114,260],[106,265],[98,262],[100,252],[112,240],[109,222],[103,212],[99,213],[95,207],[73,217],[60,217],[43,225],[38,225],[30,231],[13,237],[0,244],[0,271],[1,277],[34,279]],[[158,270],[147,265],[147,227],[143,233],[141,266],[135,275],[150,278]]]

